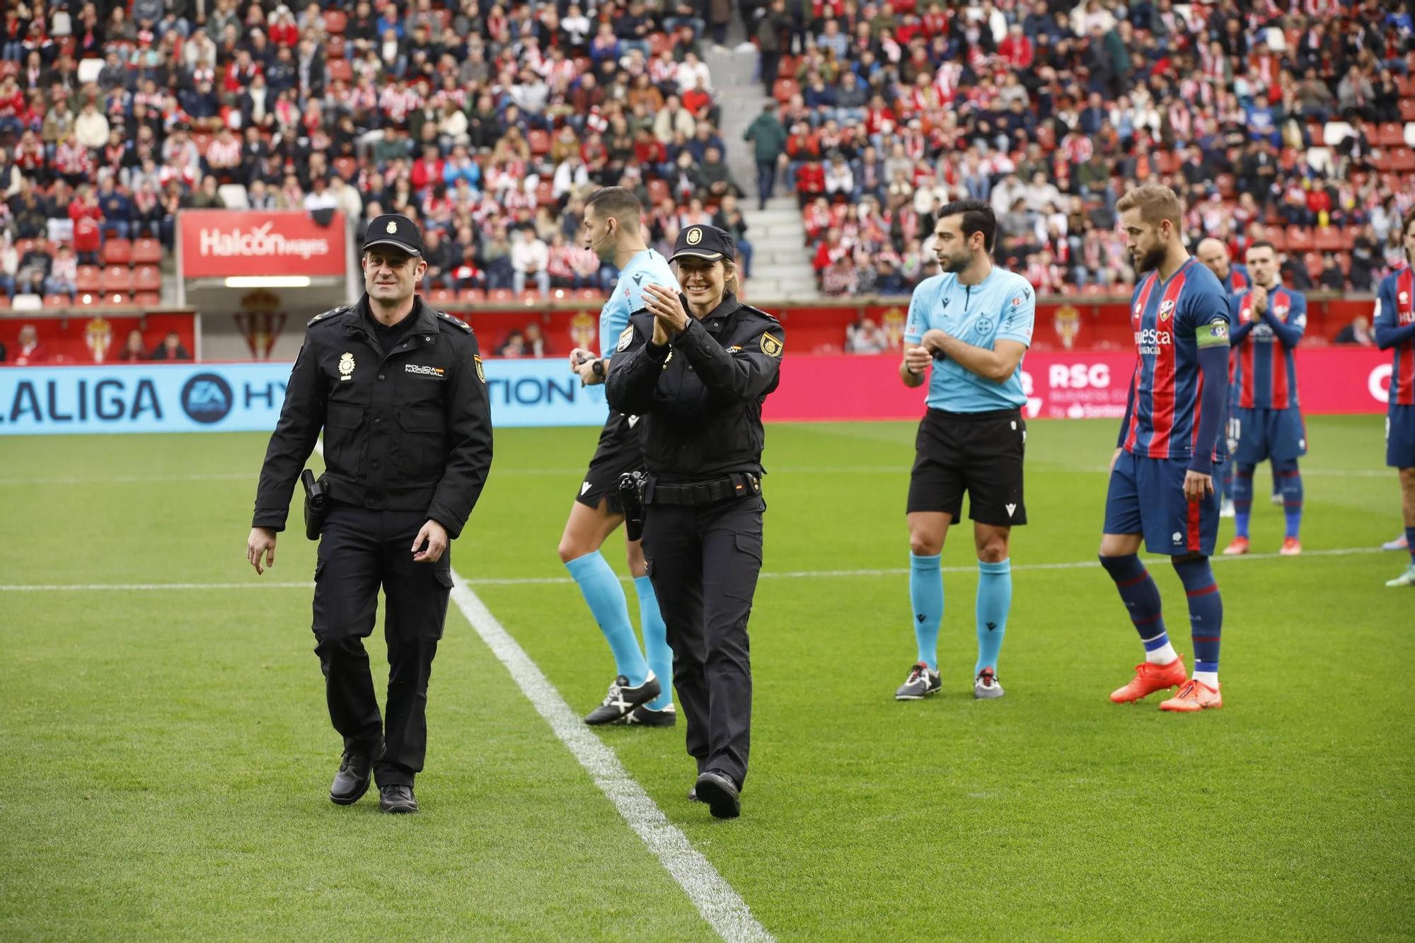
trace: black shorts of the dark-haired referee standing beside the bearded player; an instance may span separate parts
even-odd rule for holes
[[[1026,445],[1027,423],[1020,409],[930,409],[914,440],[908,513],[942,511],[957,521],[966,491],[968,517],[978,524],[1026,524],[1027,505],[1022,500]]]

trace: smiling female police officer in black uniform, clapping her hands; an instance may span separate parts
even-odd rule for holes
[[[640,416],[648,481],[644,555],[654,579],[674,685],[698,760],[696,799],[740,814],[751,726],[747,617],[761,569],[761,402],[777,388],[785,333],[740,304],[732,236],[678,234],[682,295],[644,287],[620,334],[606,395]]]

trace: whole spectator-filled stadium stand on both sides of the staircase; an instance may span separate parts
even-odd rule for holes
[[[150,299],[184,207],[338,207],[437,231],[440,302],[603,292],[613,272],[574,245],[587,193],[635,188],[659,246],[744,195],[703,18],[665,6],[7,4],[0,289]],[[1156,180],[1193,236],[1278,242],[1298,287],[1336,255],[1368,290],[1399,255],[1408,4],[734,6],[826,295],[907,293],[964,195],[996,207],[999,259],[1039,292],[1124,290],[1114,204]]]

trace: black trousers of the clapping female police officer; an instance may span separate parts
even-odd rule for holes
[[[761,572],[761,496],[713,504],[649,504],[644,556],[674,650],[678,709],[698,772],[741,789],[751,746],[747,619]]]

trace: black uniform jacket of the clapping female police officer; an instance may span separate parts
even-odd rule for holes
[[[785,347],[777,319],[729,293],[702,319],[689,316],[669,344],[652,337],[652,314],[630,317],[604,387],[610,406],[640,418],[649,474],[665,483],[761,474],[761,402],[777,388]]]

